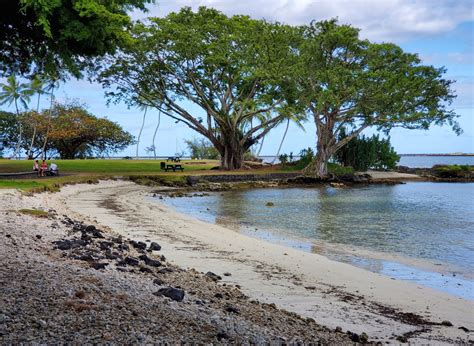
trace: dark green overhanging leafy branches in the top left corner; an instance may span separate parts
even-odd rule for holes
[[[10,0],[0,11],[0,75],[80,76],[127,41],[127,11],[153,0]]]

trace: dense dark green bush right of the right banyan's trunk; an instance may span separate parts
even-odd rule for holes
[[[349,136],[345,129],[341,129],[338,140],[342,141]],[[379,135],[352,138],[339,149],[334,158],[343,166],[351,166],[357,171],[366,171],[369,168],[394,169],[400,160],[400,156],[390,145],[390,137],[380,139]]]

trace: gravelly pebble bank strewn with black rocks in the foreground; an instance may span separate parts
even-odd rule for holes
[[[174,266],[157,243],[55,210],[46,218],[24,215],[17,208],[35,207],[25,203],[32,198],[2,197],[1,344],[367,341],[251,300],[220,282],[231,273]]]

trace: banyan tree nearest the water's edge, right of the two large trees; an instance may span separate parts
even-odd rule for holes
[[[335,20],[303,28],[299,45],[299,101],[316,125],[315,161],[308,175],[326,177],[328,160],[364,129],[428,129],[448,124],[456,133],[455,97],[444,68],[421,64],[416,54],[390,43],[359,38]],[[349,128],[351,134],[338,140]]]

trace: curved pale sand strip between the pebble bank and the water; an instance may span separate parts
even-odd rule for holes
[[[152,202],[151,189],[129,182],[67,186],[42,195],[58,213],[157,241],[173,264],[212,271],[262,302],[311,317],[331,329],[365,332],[374,341],[474,340],[474,302],[270,244],[178,214]],[[47,196],[45,198],[44,196]],[[449,321],[453,326],[441,325]]]

